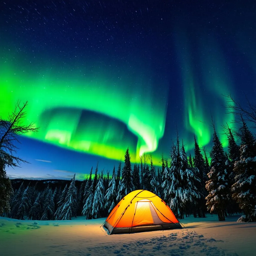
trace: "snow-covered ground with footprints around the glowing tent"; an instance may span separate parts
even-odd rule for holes
[[[239,216],[189,217],[185,228],[108,235],[105,219],[28,221],[0,217],[0,255],[255,255],[256,223]]]

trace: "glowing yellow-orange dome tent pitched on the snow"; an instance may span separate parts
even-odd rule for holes
[[[104,227],[109,234],[182,228],[170,207],[147,190],[134,190],[111,211]]]

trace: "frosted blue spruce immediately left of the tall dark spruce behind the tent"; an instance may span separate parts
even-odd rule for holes
[[[115,166],[113,168],[112,178],[109,182],[108,189],[105,194],[105,208],[110,213],[116,206],[116,186],[115,186]]]

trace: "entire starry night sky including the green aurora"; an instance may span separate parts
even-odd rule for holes
[[[176,125],[211,148],[211,115],[224,147],[223,95],[255,100],[253,1],[1,1],[0,114],[28,101],[11,178],[83,179],[169,156]]]

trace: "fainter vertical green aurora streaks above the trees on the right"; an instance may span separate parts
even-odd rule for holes
[[[214,37],[209,37],[206,42],[196,42],[201,49],[200,58],[194,57],[195,53],[190,45],[186,44],[188,41],[182,32],[176,38],[183,81],[183,125],[186,128],[181,137],[188,151],[194,149],[193,135],[200,146],[209,145],[213,134],[212,115],[220,141],[223,147],[227,147],[227,136],[222,130],[222,125],[227,123],[232,128],[232,121],[235,120],[235,116],[225,113],[224,108],[228,104],[224,95],[234,95],[231,90],[231,76],[227,72],[228,68]],[[198,70],[201,70],[200,74]]]

